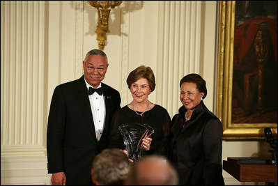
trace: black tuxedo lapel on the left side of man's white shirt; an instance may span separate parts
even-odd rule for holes
[[[84,115],[84,120],[91,133],[93,139],[96,140],[95,136],[95,125],[93,123],[93,114],[91,111],[90,100],[88,99],[88,89],[84,82],[84,76],[82,76],[79,81],[77,81],[77,88],[75,89],[77,100],[79,102],[79,107]]]

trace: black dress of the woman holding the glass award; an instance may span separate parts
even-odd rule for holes
[[[141,114],[137,111],[138,114]],[[111,123],[111,140],[109,148],[125,149],[123,137],[118,130],[118,126],[125,123],[144,123],[150,125],[155,130],[151,138],[150,150],[144,150],[142,155],[164,155],[169,152],[169,134],[171,129],[171,117],[168,111],[158,104],[153,109],[146,111],[140,116],[130,109],[127,105],[115,112]]]

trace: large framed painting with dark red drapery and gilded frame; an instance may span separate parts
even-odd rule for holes
[[[223,139],[277,138],[277,1],[219,1],[218,31]]]

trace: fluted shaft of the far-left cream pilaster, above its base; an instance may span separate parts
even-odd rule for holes
[[[1,148],[43,146],[45,2],[1,8]]]

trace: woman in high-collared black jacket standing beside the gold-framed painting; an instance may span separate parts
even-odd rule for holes
[[[169,156],[180,185],[224,185],[222,123],[203,103],[206,95],[206,81],[200,75],[180,80],[183,106],[173,116]]]

